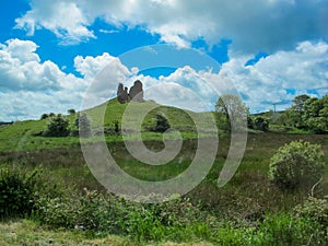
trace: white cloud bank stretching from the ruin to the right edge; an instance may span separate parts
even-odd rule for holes
[[[157,80],[138,79],[144,82],[147,98],[192,110],[213,109],[220,95],[236,91],[251,112],[273,109],[273,103],[277,109],[285,109],[295,95],[328,93],[326,43],[303,42],[294,50],[278,51],[245,67],[250,58],[232,58],[218,73],[186,66]]]

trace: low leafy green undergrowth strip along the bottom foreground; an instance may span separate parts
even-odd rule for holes
[[[316,245],[327,235],[315,220],[290,213],[265,215],[257,226],[218,221],[187,199],[142,204],[96,191],[66,199],[44,199],[40,222],[52,227],[79,229],[95,235],[118,234],[133,242],[191,242],[215,245]]]

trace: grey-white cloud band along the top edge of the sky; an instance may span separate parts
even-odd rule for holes
[[[298,42],[328,38],[325,0],[34,0],[16,26],[30,34],[44,27],[58,37],[81,40],[94,37],[91,30],[96,19],[117,27],[143,26],[179,47],[199,38],[210,45],[230,38],[244,52],[273,52]]]

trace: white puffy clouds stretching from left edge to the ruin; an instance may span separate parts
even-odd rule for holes
[[[74,59],[82,78],[66,73],[50,60],[42,62],[37,45],[31,40],[10,39],[0,44],[0,121],[38,118],[43,113],[80,109],[87,95],[94,105],[116,95],[117,84],[136,75],[117,57],[104,52],[97,57]],[[93,106],[94,106],[93,105]]]

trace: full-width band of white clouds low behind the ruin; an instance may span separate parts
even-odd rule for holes
[[[143,82],[147,99],[192,110],[213,108],[219,95],[234,93],[232,82],[253,112],[272,108],[270,103],[291,101],[295,95],[289,90],[296,94],[307,90],[316,90],[319,95],[328,92],[326,43],[303,42],[294,50],[277,51],[245,67],[250,58],[233,57],[219,72],[185,66],[155,79],[138,74],[138,68],[128,69],[119,58],[104,52],[97,57],[77,56],[74,67],[82,74],[77,78],[52,61],[42,62],[35,43],[10,39],[0,45],[0,121],[80,109],[91,84],[87,96],[93,103],[90,106],[95,106],[115,96],[118,83],[131,86],[137,79]]]

